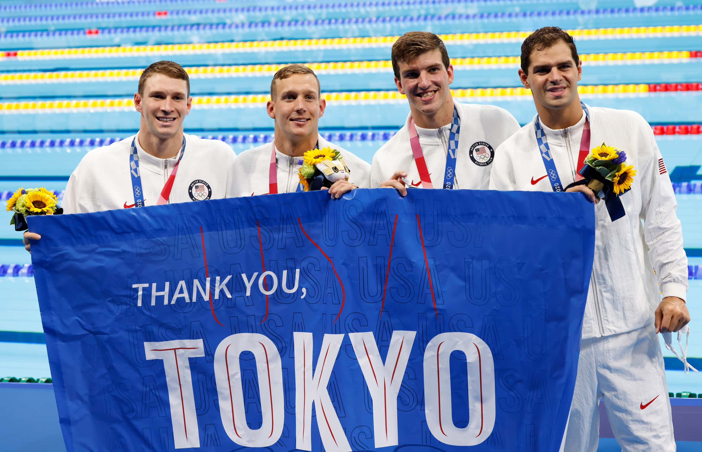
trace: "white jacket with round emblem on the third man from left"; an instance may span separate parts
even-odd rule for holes
[[[519,123],[505,109],[494,105],[460,104],[453,105],[461,119],[461,135],[458,137],[456,152],[456,174],[460,177],[460,188],[486,190],[490,178],[490,168],[496,149],[512,133],[519,130]],[[416,187],[419,173],[409,144],[409,119],[388,142],[373,156],[371,166],[371,188],[392,177],[395,171],[406,171],[407,179]],[[430,173],[432,186],[442,188],[446,171],[446,149],[441,147],[423,148],[424,159]]]

